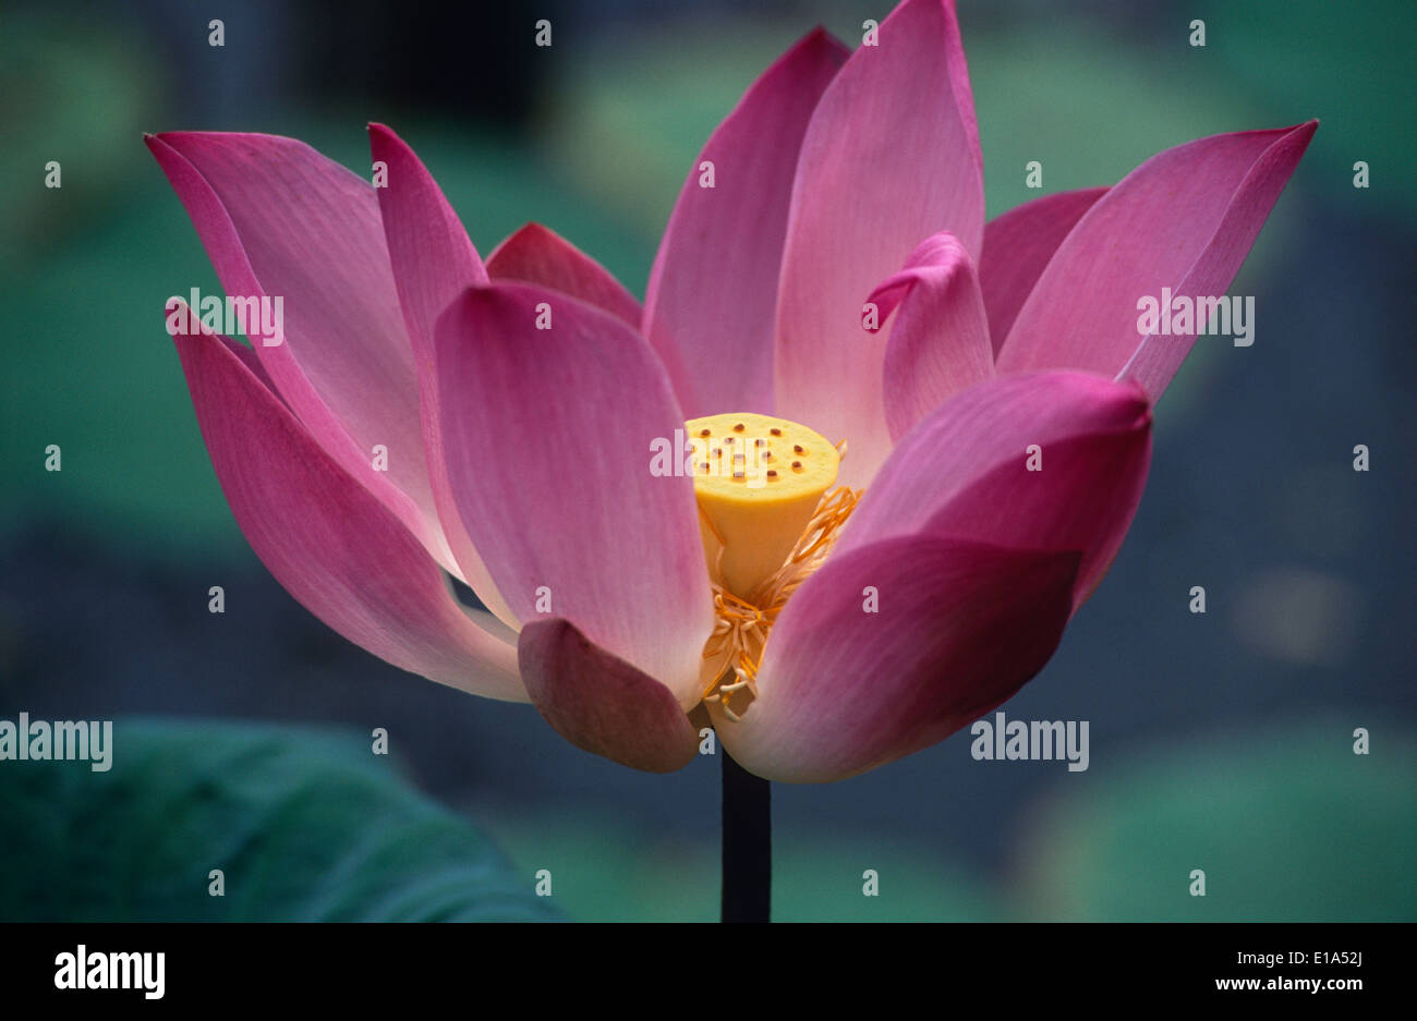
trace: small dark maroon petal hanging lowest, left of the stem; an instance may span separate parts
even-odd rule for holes
[[[577,748],[669,773],[693,760],[699,734],[669,688],[599,649],[561,617],[521,629],[521,674],[537,709]]]

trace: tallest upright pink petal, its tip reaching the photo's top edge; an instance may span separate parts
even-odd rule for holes
[[[905,0],[828,86],[798,163],[778,293],[778,413],[850,440],[842,481],[890,452],[883,346],[862,303],[920,238],[978,259],[983,170],[954,4]]]

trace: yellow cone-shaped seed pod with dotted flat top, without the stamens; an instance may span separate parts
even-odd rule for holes
[[[842,457],[820,433],[769,415],[710,415],[684,430],[708,575],[751,599],[792,554]]]

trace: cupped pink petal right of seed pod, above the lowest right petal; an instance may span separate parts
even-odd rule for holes
[[[833,557],[911,534],[1074,549],[1080,606],[1127,535],[1149,463],[1141,388],[1085,372],[990,380],[896,447]]]

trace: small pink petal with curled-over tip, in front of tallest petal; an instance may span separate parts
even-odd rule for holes
[[[925,238],[905,268],[876,287],[867,302],[879,306],[880,321],[900,306],[884,367],[893,442],[947,398],[993,375],[979,279],[955,235]]]

